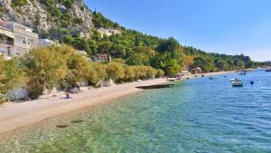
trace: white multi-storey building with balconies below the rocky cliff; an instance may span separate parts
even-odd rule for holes
[[[11,58],[28,53],[38,44],[39,36],[33,29],[14,22],[0,20],[0,54]]]

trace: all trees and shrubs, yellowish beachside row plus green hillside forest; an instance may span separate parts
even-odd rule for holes
[[[27,1],[13,1],[14,5],[23,5]],[[259,65],[270,65],[270,62],[253,62],[248,56],[206,53],[193,47],[182,46],[173,37],[168,39],[139,33],[114,23],[102,14],[93,12],[92,22],[95,27],[118,30],[119,34],[101,35],[91,31],[89,37],[81,37],[70,32],[70,27],[83,24],[81,18],[73,16],[69,11],[56,7],[55,0],[40,0],[46,5],[48,22],[58,26],[41,35],[58,38],[61,46],[36,48],[19,59],[4,61],[0,59],[0,99],[18,87],[25,87],[29,97],[35,99],[42,92],[56,87],[68,90],[78,87],[84,81],[97,87],[100,81],[112,79],[118,83],[124,81],[145,80],[162,77],[173,77],[178,72],[190,69],[196,73],[200,67],[202,72],[231,71],[253,68]],[[58,0],[69,10],[74,0]],[[84,8],[80,8],[84,10]],[[41,24],[41,16],[35,16],[35,23]],[[64,36],[65,35],[65,36]],[[88,53],[88,57],[76,53],[73,49]],[[92,62],[96,53],[107,53],[112,62]]]

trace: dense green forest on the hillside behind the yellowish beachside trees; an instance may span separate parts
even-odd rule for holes
[[[126,30],[97,12],[93,13],[92,20],[97,27],[118,29],[122,33],[102,37],[94,30],[87,39],[78,35],[64,38],[64,43],[86,51],[89,58],[93,58],[96,53],[108,53],[113,59],[124,59],[128,65],[146,65],[161,69],[167,76],[174,76],[184,67],[190,68],[192,72],[196,72],[198,67],[202,72],[218,72],[252,68],[256,65],[243,54],[206,53],[193,47],[182,46],[172,37],[162,39]]]

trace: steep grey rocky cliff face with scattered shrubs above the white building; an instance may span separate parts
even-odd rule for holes
[[[32,27],[40,38],[88,36],[94,27],[83,0],[0,0],[0,17]]]

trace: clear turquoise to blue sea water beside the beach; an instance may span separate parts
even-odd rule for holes
[[[244,87],[232,88],[232,77]],[[0,140],[0,152],[271,152],[271,73],[218,78],[143,91],[14,133]]]

